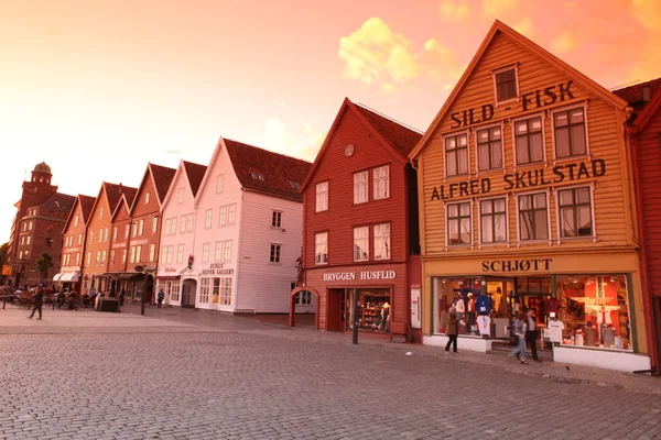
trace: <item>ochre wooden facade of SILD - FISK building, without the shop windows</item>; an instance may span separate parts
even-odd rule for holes
[[[630,350],[648,353],[626,106],[494,24],[410,155],[420,182],[423,332],[430,340],[442,333],[434,322],[444,310],[433,294],[441,280],[474,278],[484,290],[489,277],[503,286],[548,277],[552,296],[557,277],[574,274],[587,284],[626,284],[621,326]],[[649,358],[638,361],[644,365]]]

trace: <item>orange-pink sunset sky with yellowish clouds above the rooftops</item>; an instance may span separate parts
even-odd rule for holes
[[[498,19],[608,89],[661,77],[658,0],[0,0],[0,243],[59,191],[208,164],[219,136],[314,161],[345,97],[420,131]]]

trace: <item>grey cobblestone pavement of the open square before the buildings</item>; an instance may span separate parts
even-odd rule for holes
[[[61,314],[0,328],[0,439],[661,439],[653,392],[220,314],[149,309],[159,326],[123,333],[61,332]]]

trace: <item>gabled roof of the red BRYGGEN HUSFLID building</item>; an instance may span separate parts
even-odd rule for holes
[[[367,130],[369,130],[375,138],[381,142],[381,144],[390,151],[393,156],[402,164],[407,163],[408,155],[411,151],[418,145],[420,140],[422,139],[422,133],[409,129],[395,122],[382,114],[377,113],[373,110],[367,109],[360,105],[355,105],[349,100],[349,98],[345,98],[337,116],[335,117],[335,121],[333,121],[333,125],[330,125],[330,130],[317,153],[316,158],[314,160],[314,164],[310,169],[310,173],[305,177],[303,185],[301,185],[301,191],[305,190],[310,182],[312,180],[316,168],[322,162],[322,157],[326,153],[328,145],[330,144],[330,140],[333,139],[337,127],[339,125],[339,121],[346,111],[353,111],[358,120],[360,120]]]

